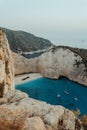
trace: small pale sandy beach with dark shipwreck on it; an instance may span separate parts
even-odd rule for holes
[[[41,78],[42,75],[40,73],[29,73],[15,76],[15,85],[26,83],[28,81]]]

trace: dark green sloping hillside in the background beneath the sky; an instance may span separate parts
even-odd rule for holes
[[[10,44],[12,51],[37,51],[47,49],[52,46],[52,43],[44,38],[36,37],[33,34],[24,31],[13,31],[10,29],[3,28],[7,35],[7,39]]]

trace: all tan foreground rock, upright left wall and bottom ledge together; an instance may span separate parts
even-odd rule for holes
[[[0,30],[0,130],[83,130],[70,110],[12,90],[13,78],[11,52]]]

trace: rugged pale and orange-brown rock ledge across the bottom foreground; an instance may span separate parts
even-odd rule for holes
[[[6,93],[0,104],[0,130],[82,130],[68,109],[34,100],[18,90]]]

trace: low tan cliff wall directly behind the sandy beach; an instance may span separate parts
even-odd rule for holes
[[[38,72],[38,58],[27,59],[20,54],[12,53],[15,75]]]

